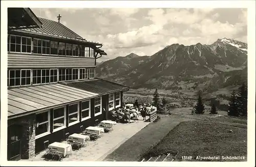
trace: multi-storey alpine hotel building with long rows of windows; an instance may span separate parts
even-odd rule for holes
[[[8,160],[29,159],[65,133],[109,118],[129,87],[97,79],[106,53],[30,8],[8,8]]]

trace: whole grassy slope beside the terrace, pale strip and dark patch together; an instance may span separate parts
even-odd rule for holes
[[[142,156],[165,152],[178,152],[177,160],[186,155],[246,156],[247,120],[227,116],[224,111],[219,114],[224,116],[215,117],[207,112],[203,115],[191,115],[190,108],[176,108],[172,115],[148,125],[106,159],[137,161]],[[229,129],[233,132],[229,133]],[[150,148],[157,142],[158,145]]]

